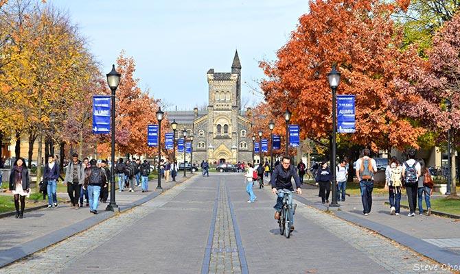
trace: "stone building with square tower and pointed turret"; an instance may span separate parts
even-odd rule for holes
[[[170,123],[178,123],[176,138],[185,128],[193,134],[193,162],[251,162],[251,111],[241,110],[241,64],[235,52],[230,73],[207,71],[209,85],[207,110],[168,111]],[[176,156],[183,162],[180,155]],[[189,156],[187,156],[189,161]]]

